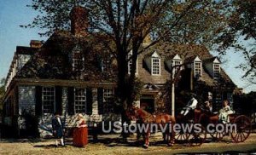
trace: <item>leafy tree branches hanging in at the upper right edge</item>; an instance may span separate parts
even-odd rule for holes
[[[225,54],[226,49],[236,49],[246,60],[240,67],[251,83],[256,83],[256,1],[232,0],[224,11],[227,26],[218,35],[218,50]]]

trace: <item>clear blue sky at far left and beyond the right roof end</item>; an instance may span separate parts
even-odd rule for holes
[[[30,3],[31,0],[0,0],[0,78],[6,78],[16,46],[29,46],[31,40],[47,39],[47,37],[39,37],[40,29],[20,27],[29,24],[37,15],[37,12],[26,7]],[[212,55],[217,54],[212,53]],[[244,62],[241,54],[234,53],[230,49],[223,60],[224,71],[239,88],[243,88],[245,92],[256,91],[256,85],[242,79],[244,72],[236,68]]]

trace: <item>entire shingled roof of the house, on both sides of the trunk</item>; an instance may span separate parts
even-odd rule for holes
[[[105,38],[106,39],[105,39]],[[32,56],[26,65],[17,73],[17,78],[41,78],[41,79],[76,79],[83,81],[105,81],[115,82],[116,66],[113,66],[113,71],[102,72],[97,66],[99,55],[106,54],[106,50],[102,49],[99,38],[104,38],[108,41],[108,37],[102,34],[87,35],[86,37],[74,37],[71,32],[55,32],[44,46]],[[83,54],[86,56],[86,66],[82,72],[74,72],[72,70],[72,63],[70,63],[70,53],[79,44]],[[111,44],[109,42],[108,44]],[[170,79],[170,72],[165,67],[161,68],[160,76],[151,76],[147,67],[143,65],[143,60],[148,56],[160,56],[163,60],[171,59],[170,55],[179,55],[190,62],[195,60],[197,55],[200,55],[201,60],[212,59],[209,51],[201,45],[195,44],[171,44],[158,43],[148,48],[145,52],[138,56],[138,77],[143,83],[163,84]],[[173,58],[173,57],[172,57]],[[67,63],[69,62],[69,63]],[[221,70],[221,77],[224,78],[225,83],[233,83],[231,79]],[[216,80],[211,78],[207,71],[203,70],[202,79],[209,86],[216,84]],[[233,83],[234,84],[234,83]]]

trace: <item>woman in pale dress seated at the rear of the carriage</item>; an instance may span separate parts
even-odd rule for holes
[[[231,110],[228,100],[223,101],[223,108],[220,109],[218,113],[219,121],[221,121],[222,123],[230,123],[229,115],[234,112]]]

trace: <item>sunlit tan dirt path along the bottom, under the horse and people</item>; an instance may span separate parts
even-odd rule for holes
[[[111,138],[109,138],[111,137]],[[247,141],[239,144],[232,143],[230,138],[220,142],[207,141],[202,146],[166,146],[159,141],[160,137],[151,138],[151,146],[143,149],[135,139],[128,143],[120,141],[118,135],[104,135],[99,137],[98,143],[91,143],[84,148],[72,146],[72,140],[67,141],[66,147],[55,147],[53,140],[2,140],[0,154],[172,154],[184,152],[256,152],[256,134],[250,135]]]

